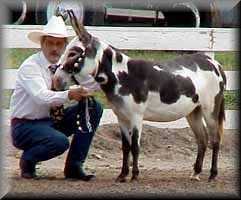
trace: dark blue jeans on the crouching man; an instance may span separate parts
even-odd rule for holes
[[[73,164],[83,163],[102,113],[101,105],[96,100],[89,99],[90,124],[93,128],[91,132],[86,127],[84,101],[64,110],[64,118],[58,129],[51,118],[17,123],[11,127],[13,145],[23,150],[22,159],[33,163],[54,158],[68,148],[68,161]],[[80,115],[81,131],[76,124],[77,114]],[[69,144],[68,137],[71,135],[73,138]]]

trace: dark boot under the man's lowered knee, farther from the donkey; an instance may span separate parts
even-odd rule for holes
[[[21,169],[21,177],[26,179],[36,178],[35,164],[31,161],[20,159],[19,166]]]

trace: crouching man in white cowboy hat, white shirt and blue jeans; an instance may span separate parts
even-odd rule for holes
[[[69,148],[65,177],[92,180],[95,176],[87,175],[83,164],[102,115],[100,104],[88,98],[88,86],[93,89],[96,85],[90,80],[85,88],[51,90],[52,74],[49,66],[57,63],[69,39],[62,17],[53,16],[43,31],[31,32],[28,38],[40,44],[41,51],[27,58],[20,66],[10,101],[13,145],[23,150],[20,159],[21,176],[35,178],[36,163],[54,158]],[[86,98],[89,99],[89,120],[86,119]],[[50,109],[63,105],[67,100],[79,103],[64,110],[57,129],[50,118]],[[81,129],[76,124],[77,115]],[[88,128],[88,123],[92,129]],[[69,145],[70,135],[73,138]]]

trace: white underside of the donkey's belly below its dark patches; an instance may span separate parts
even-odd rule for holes
[[[191,98],[181,95],[171,104],[161,102],[158,93],[151,93],[144,113],[144,119],[156,122],[168,122],[180,119],[191,113],[199,104],[194,103]]]

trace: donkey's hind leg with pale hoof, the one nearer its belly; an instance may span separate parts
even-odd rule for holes
[[[200,107],[197,107],[192,113],[190,113],[187,116],[187,121],[194,132],[194,135],[196,137],[196,142],[198,145],[198,153],[196,157],[196,162],[194,163],[194,172],[191,175],[192,180],[199,181],[199,174],[202,172],[202,166],[203,166],[203,159],[205,156],[205,152],[207,149],[207,143],[208,143],[208,135],[206,128],[203,125],[202,122],[202,110]]]

